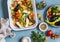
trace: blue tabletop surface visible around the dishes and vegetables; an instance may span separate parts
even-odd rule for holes
[[[41,0],[36,0],[36,3],[39,3],[40,1]],[[60,4],[60,0],[45,0],[45,1],[47,2],[47,6],[45,7],[45,9],[37,10],[37,13],[40,13],[42,15],[42,17],[43,17],[43,15],[46,15],[46,14],[44,14],[44,12],[46,11],[46,9],[49,6]],[[7,0],[0,0],[0,18],[1,17],[8,18]],[[39,23],[40,22],[41,21],[39,21]],[[7,42],[19,42],[19,39],[21,39],[22,37],[31,36],[31,31],[39,31],[40,32],[40,30],[38,30],[37,28],[38,27],[36,27],[33,30],[25,30],[25,31],[19,31],[19,32],[14,31],[16,33],[16,37],[15,38],[6,37],[6,41]],[[60,28],[54,28],[51,26],[49,26],[48,28],[52,29],[54,33],[57,33],[60,35]],[[50,39],[50,37],[49,37],[49,40],[47,40],[46,42],[60,42],[60,38],[53,40],[53,39]]]

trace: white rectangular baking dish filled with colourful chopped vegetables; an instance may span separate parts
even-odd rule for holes
[[[8,0],[7,5],[13,30],[33,29],[37,26],[35,0]]]

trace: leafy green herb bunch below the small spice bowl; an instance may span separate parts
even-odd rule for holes
[[[33,42],[44,42],[45,39],[43,36],[44,36],[43,32],[39,33],[39,32],[32,31],[32,34],[31,34],[31,38]]]

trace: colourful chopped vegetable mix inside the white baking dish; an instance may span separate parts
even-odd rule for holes
[[[13,0],[10,9],[14,25],[22,28],[35,24],[31,0]]]

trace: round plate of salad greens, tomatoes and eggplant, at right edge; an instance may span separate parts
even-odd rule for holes
[[[54,27],[60,27],[60,5],[53,5],[47,10],[46,22]]]

